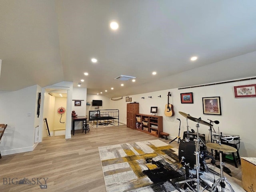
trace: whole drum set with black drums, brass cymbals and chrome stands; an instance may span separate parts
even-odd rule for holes
[[[201,183],[204,183],[204,182],[200,179],[199,174],[200,174],[200,170],[212,171],[215,174],[218,174],[214,170],[208,169],[206,165],[206,158],[212,158],[212,160],[214,160],[213,156],[208,155],[208,151],[206,150],[206,148],[210,148],[215,151],[220,151],[219,153],[220,154],[220,174],[218,174],[220,178],[218,178],[216,181],[214,179],[214,184],[210,188],[210,192],[224,192],[226,184],[230,188],[230,191],[234,192],[234,189],[232,188],[232,186],[230,185],[230,183],[228,182],[228,180],[226,179],[223,173],[224,172],[223,168],[225,164],[222,162],[222,152],[236,152],[237,151],[236,148],[221,144],[220,139],[219,139],[219,143],[205,143],[205,141],[202,140],[202,137],[200,137],[200,134],[198,131],[200,127],[199,124],[209,126],[210,130],[212,130],[213,123],[218,124],[219,122],[210,120],[210,123],[208,123],[203,121],[201,118],[194,118],[190,116],[190,114],[186,114],[184,112],[179,112],[179,113],[186,118],[186,122],[187,122],[186,138],[181,140],[180,146],[179,146],[179,160],[180,160],[180,164],[184,164],[185,166],[186,177],[185,177],[185,180],[176,182],[175,184],[176,185],[184,184],[186,188],[189,187],[190,190],[192,190],[193,192],[203,192],[206,188],[209,188],[208,185],[206,185],[204,188],[202,187]],[[189,128],[188,119],[198,123],[196,124],[196,133],[192,133],[194,135],[196,134],[193,141],[190,140],[191,133],[189,133],[189,130],[188,130]],[[194,154],[192,154],[191,156],[190,153],[193,150],[194,150]],[[193,168],[194,170],[196,170],[196,174],[192,173]]]

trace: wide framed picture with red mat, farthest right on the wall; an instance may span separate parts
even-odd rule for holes
[[[234,86],[235,98],[256,97],[256,84]]]

